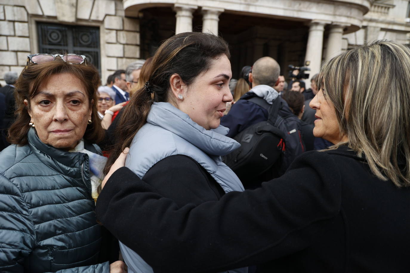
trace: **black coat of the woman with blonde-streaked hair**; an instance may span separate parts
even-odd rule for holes
[[[410,188],[380,180],[347,147],[303,153],[280,178],[219,201],[178,206],[154,191],[118,169],[96,212],[157,273],[410,268]]]

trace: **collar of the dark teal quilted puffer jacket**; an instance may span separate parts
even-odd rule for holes
[[[87,154],[68,152],[64,149],[58,149],[45,144],[39,139],[34,128],[30,128],[28,131],[27,139],[30,149],[43,164],[51,169],[55,169],[61,174],[82,180],[89,189],[89,192],[91,192],[89,159]],[[86,146],[86,149],[95,153],[97,152],[92,145],[84,143],[84,147]]]

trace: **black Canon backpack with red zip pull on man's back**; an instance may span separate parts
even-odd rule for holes
[[[275,126],[279,117],[279,98],[275,99],[272,105],[259,97],[248,100],[258,105],[263,102],[269,105],[269,117],[268,120],[253,124],[237,134],[233,139],[239,142],[241,147],[225,156],[225,164],[235,172],[244,186],[246,181],[256,180],[257,176],[272,168],[285,151],[286,138],[285,133]]]

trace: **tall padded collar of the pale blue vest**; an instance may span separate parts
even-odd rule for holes
[[[228,128],[219,125],[214,130],[206,130],[168,102],[154,102],[147,122],[175,133],[209,155],[225,156],[240,146],[225,136]]]

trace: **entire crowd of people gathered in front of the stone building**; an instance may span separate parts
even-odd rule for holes
[[[408,271],[408,47],[309,89],[269,56],[232,79],[198,32],[105,85],[84,55],[27,58],[0,88],[1,272]]]

